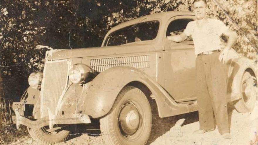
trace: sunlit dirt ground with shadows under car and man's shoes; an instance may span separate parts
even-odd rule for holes
[[[258,103],[257,103],[258,104]],[[232,139],[223,139],[218,129],[202,135],[193,134],[199,128],[198,112],[174,117],[154,116],[152,133],[147,144],[150,145],[257,145],[258,144],[258,105],[252,112],[239,113],[228,104]],[[78,125],[69,139],[60,145],[105,144],[98,125]],[[39,145],[30,136],[21,137],[12,144]]]

